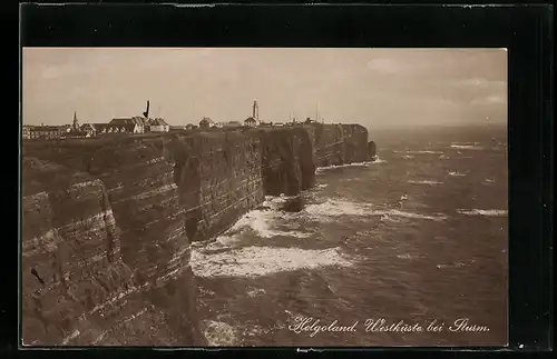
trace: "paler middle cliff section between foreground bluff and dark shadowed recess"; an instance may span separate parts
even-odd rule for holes
[[[240,132],[206,132],[186,139],[188,157],[196,168],[182,170],[182,192],[198,191],[196,202],[186,205],[192,240],[205,240],[228,229],[241,216],[264,199],[261,146],[257,137]],[[194,164],[195,163],[195,164]]]

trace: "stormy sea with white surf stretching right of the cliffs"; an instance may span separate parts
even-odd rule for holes
[[[506,127],[370,139],[375,160],[193,245],[209,346],[507,345]]]

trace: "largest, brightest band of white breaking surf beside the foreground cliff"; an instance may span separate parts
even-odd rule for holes
[[[255,278],[281,271],[315,269],[328,266],[350,267],[339,248],[310,250],[300,248],[245,247],[219,253],[192,251],[192,270],[202,278]]]

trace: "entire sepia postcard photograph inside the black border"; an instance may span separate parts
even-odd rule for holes
[[[507,67],[25,47],[21,346],[507,346]]]

